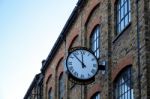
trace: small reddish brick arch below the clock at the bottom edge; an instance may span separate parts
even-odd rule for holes
[[[97,92],[101,92],[101,86],[99,84],[94,84],[87,92],[87,99],[91,99],[91,97]]]

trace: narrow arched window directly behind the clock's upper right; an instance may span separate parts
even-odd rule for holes
[[[97,58],[100,57],[100,26],[96,26],[91,36],[91,49]]]

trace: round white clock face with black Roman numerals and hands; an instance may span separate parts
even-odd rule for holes
[[[96,57],[86,49],[71,51],[67,57],[66,66],[69,73],[79,80],[91,79],[98,71]]]

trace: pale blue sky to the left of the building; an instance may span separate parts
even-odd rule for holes
[[[23,99],[78,0],[0,0],[0,99]]]

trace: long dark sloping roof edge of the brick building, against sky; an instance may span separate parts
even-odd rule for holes
[[[70,29],[72,26],[73,22],[75,21],[76,17],[78,16],[78,10],[83,6],[85,0],[79,0],[73,9],[69,19],[67,20],[65,26],[63,27],[59,37],[57,38],[52,50],[50,51],[45,63],[42,65],[41,72],[44,74],[45,70],[48,67],[48,64],[50,61],[53,59],[54,55],[56,54],[58,48],[60,47],[60,44],[65,40],[67,31]]]

